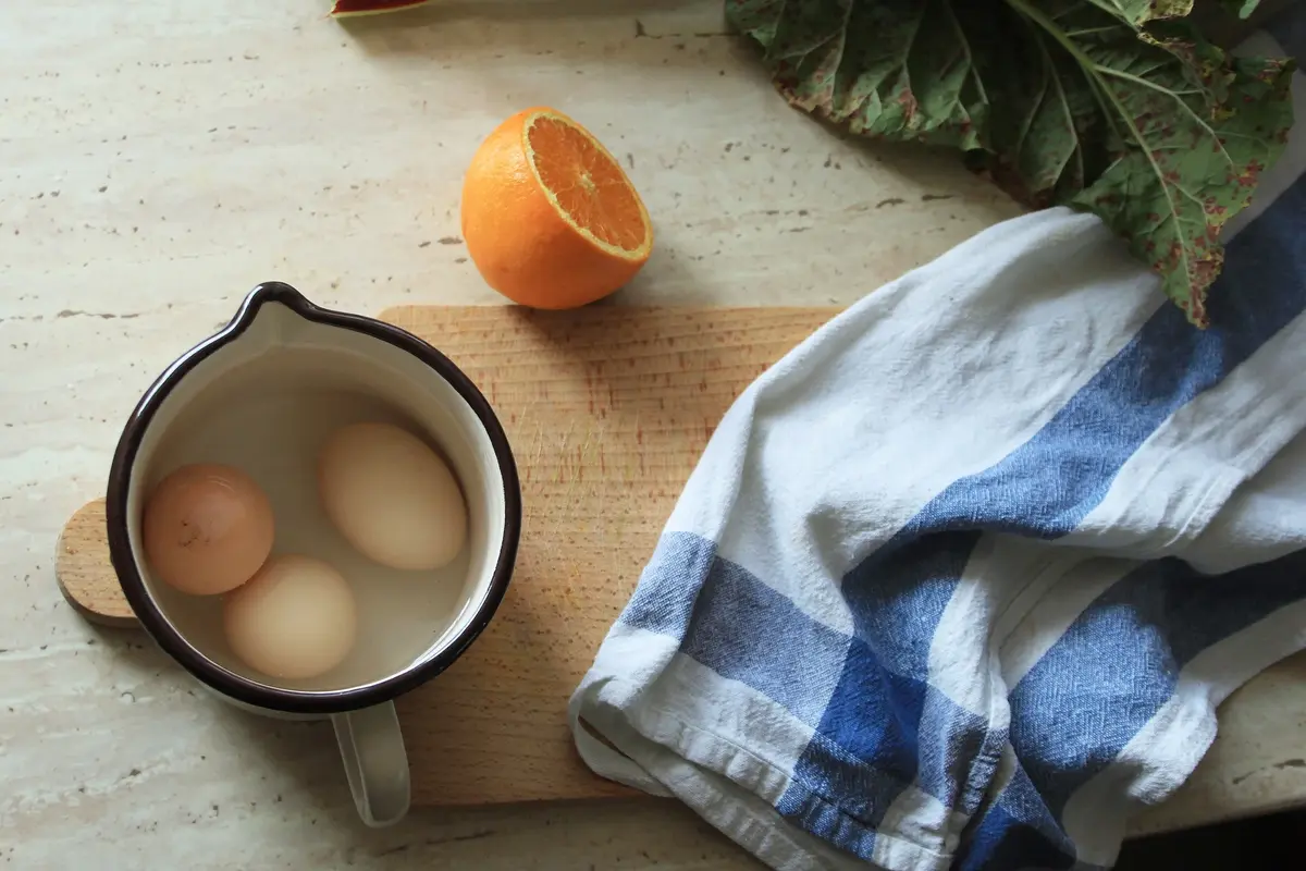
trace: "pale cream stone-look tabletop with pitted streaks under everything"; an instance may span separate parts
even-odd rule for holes
[[[357,823],[329,730],[251,718],[61,601],[55,538],[132,404],[257,281],[333,307],[498,303],[462,170],[530,104],[629,165],[658,251],[619,302],[852,303],[1015,214],[947,155],[789,110],[718,0],[0,4],[0,862],[12,867],[743,868],[669,802]],[[428,244],[434,243],[434,244]],[[559,700],[562,703],[562,700]],[[1306,659],[1225,706],[1136,831],[1306,800]]]

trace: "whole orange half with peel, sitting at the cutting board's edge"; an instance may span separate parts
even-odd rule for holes
[[[533,308],[575,308],[635,277],[648,210],[616,158],[551,108],[500,124],[462,182],[462,238],[486,282]]]

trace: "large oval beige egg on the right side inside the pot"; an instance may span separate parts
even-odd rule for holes
[[[468,537],[468,509],[444,460],[411,432],[355,423],[317,458],[317,492],[332,524],[390,568],[448,565]]]

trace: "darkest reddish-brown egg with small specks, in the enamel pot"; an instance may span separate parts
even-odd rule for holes
[[[248,581],[276,531],[272,504],[253,478],[212,464],[182,466],[145,501],[145,559],[183,593],[217,595]]]

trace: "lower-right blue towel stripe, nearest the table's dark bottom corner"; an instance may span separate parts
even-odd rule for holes
[[[1218,576],[1157,560],[1102,593],[1012,689],[1017,770],[973,824],[963,871],[1024,868],[1033,855],[1071,867],[1070,798],[1174,697],[1194,657],[1303,597],[1306,551]]]

